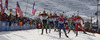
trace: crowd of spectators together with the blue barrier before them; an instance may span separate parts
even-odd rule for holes
[[[17,14],[0,13],[0,31],[35,29],[34,22],[31,18],[18,17]]]

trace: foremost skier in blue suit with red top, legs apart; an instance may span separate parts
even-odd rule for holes
[[[63,31],[65,33],[65,36],[67,36],[66,34],[66,30],[65,30],[65,25],[64,25],[64,18],[63,18],[63,15],[60,15],[60,18],[58,19],[59,20],[59,23],[58,23],[58,29],[59,29],[59,38],[61,38],[61,28],[63,28]]]

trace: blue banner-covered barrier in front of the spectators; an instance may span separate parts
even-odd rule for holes
[[[22,26],[18,25],[18,22],[15,22],[9,26],[9,23],[6,21],[0,21],[0,31],[16,31],[16,30],[27,30],[27,29],[35,29],[34,24],[26,23]]]

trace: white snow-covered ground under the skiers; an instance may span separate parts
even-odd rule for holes
[[[100,40],[100,34],[88,34],[90,35],[79,32],[79,35],[75,37],[75,34],[71,31],[68,34],[69,38],[66,38],[62,31],[62,37],[59,39],[58,32],[54,32],[53,29],[52,32],[48,34],[46,34],[44,30],[44,35],[41,35],[41,29],[32,29],[0,32],[0,40]]]

